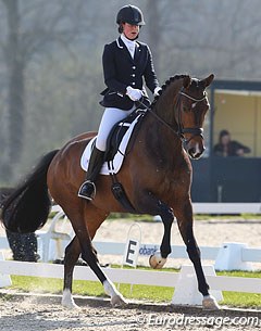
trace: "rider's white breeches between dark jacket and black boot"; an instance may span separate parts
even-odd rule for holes
[[[123,111],[120,109],[113,109],[108,107],[104,110],[104,113],[101,118],[97,140],[96,140],[96,147],[98,150],[104,152],[107,148],[107,138],[117,122],[126,118],[133,111],[135,110],[135,106],[133,106],[128,111]]]

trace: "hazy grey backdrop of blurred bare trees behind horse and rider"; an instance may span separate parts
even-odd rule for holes
[[[24,169],[72,136],[96,130],[101,54],[127,1],[0,0],[0,173]],[[161,82],[174,74],[261,78],[260,0],[132,0]],[[17,173],[16,166],[13,173]],[[12,180],[12,178],[11,178]],[[7,183],[7,182],[5,182]]]

